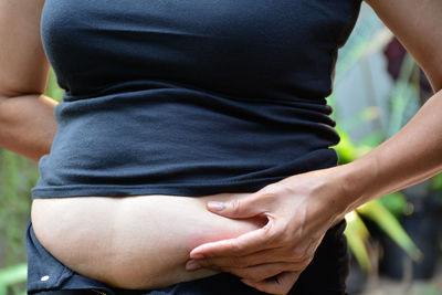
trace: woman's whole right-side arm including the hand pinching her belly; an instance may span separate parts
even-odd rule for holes
[[[442,170],[442,32],[434,29],[442,27],[442,2],[368,3],[438,93],[397,135],[351,164],[293,176],[234,202],[209,203],[209,210],[223,217],[264,215],[269,222],[238,239],[193,249],[190,256],[201,266],[236,274],[263,292],[285,294],[312,261],[325,232],[347,212]],[[274,275],[276,280],[265,280]]]

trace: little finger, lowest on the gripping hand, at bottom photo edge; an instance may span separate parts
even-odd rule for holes
[[[287,294],[299,276],[299,272],[285,272],[274,278],[253,282],[241,280],[245,285],[270,294]]]

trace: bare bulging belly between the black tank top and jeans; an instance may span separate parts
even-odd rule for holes
[[[190,250],[234,238],[265,220],[232,220],[206,209],[245,193],[35,199],[31,219],[44,247],[71,270],[110,286],[161,288],[217,272],[185,268]]]

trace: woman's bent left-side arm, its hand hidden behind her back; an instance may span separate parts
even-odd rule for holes
[[[40,39],[44,0],[0,0],[0,147],[38,161],[56,130],[44,96],[49,62]]]

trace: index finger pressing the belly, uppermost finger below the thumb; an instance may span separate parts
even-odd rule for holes
[[[265,226],[241,234],[235,239],[199,245],[190,252],[190,257],[244,256],[265,249],[271,249],[273,241],[273,219],[270,219]]]

